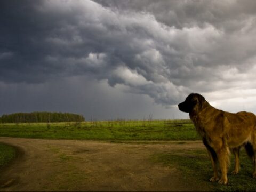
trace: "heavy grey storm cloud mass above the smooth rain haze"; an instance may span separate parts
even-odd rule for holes
[[[0,81],[86,75],[163,105],[251,88],[255,9],[254,1],[1,1]]]

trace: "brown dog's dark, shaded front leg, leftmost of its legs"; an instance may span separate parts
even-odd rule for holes
[[[218,159],[217,159],[217,154],[213,150],[213,148],[208,144],[206,139],[203,139],[203,143],[205,147],[207,148],[208,155],[211,159],[212,163],[212,169],[213,169],[213,177],[210,179],[211,182],[215,182],[219,180],[219,174],[218,174]]]

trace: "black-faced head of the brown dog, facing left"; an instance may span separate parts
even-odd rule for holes
[[[191,93],[184,102],[178,105],[179,109],[186,113],[199,112],[202,109],[205,99],[201,94]]]

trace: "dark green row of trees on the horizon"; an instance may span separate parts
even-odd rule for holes
[[[57,112],[32,112],[2,115],[1,123],[50,123],[50,122],[82,122],[82,115]]]

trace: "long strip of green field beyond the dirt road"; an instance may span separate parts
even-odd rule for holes
[[[0,136],[107,141],[200,139],[189,120],[3,123]]]

